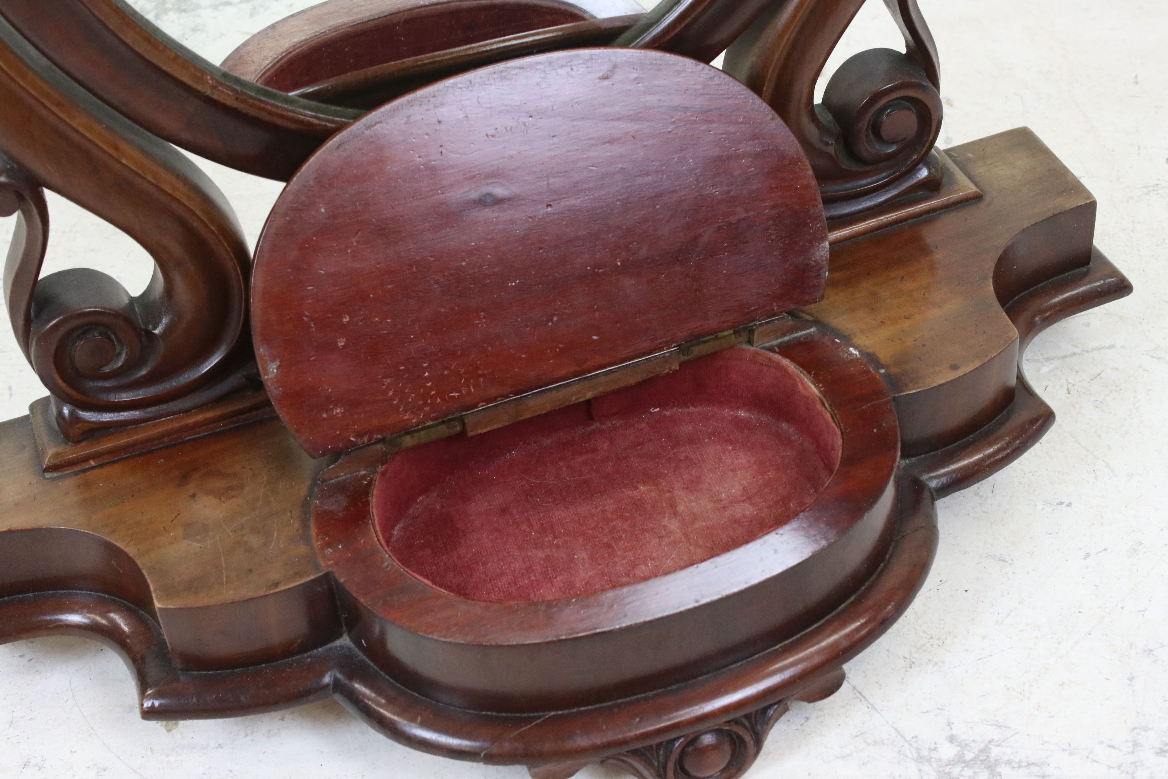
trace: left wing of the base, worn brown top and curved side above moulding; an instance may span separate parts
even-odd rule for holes
[[[22,565],[0,565],[0,586],[28,591],[26,570],[57,566],[69,573],[60,587],[153,607],[180,667],[231,667],[331,640],[339,626],[308,537],[308,494],[322,465],[269,420],[49,478],[29,418],[0,423],[0,550],[12,554],[39,528],[69,529],[20,547]],[[111,551],[83,555],[81,534]],[[86,584],[113,576],[102,571],[114,565],[141,579],[150,598]]]

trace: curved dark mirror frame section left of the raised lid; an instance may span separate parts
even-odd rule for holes
[[[325,139],[360,116],[228,72],[124,0],[0,0],[0,15],[118,113],[245,173],[286,180]]]

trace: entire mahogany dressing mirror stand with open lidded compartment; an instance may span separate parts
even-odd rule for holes
[[[1054,423],[1030,340],[1131,292],[1030,131],[933,147],[888,5],[906,51],[813,105],[858,0],[332,0],[227,70],[0,0],[50,391],[0,423],[0,640],[104,641],[147,719],[333,696],[538,779],[742,775],[909,607],[936,502]],[[171,144],[288,181],[255,257]],[[43,188],[151,252],[142,295],[39,278]]]

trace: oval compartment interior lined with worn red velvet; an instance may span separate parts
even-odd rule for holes
[[[644,582],[797,516],[840,431],[790,362],[735,348],[585,403],[396,454],[374,522],[415,577],[521,603]]]

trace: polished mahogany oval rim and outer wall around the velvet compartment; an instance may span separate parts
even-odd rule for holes
[[[534,603],[472,600],[422,582],[385,551],[373,519],[380,470],[373,465],[325,480],[313,501],[317,552],[361,651],[403,684],[443,703],[480,711],[552,710],[637,695],[723,667],[837,607],[871,576],[891,543],[899,452],[891,398],[876,370],[816,322],[783,318],[764,336],[764,349],[806,374],[839,427],[839,466],[797,516],[703,562],[602,592]],[[714,361],[707,376],[732,381],[722,371],[738,357],[696,362],[703,360]],[[634,398],[635,391],[624,399]],[[799,416],[787,413],[792,420]],[[806,422],[798,426],[815,429]],[[722,437],[721,445],[735,457],[735,441]],[[830,455],[829,441],[816,448]],[[771,507],[778,514],[790,508],[781,501]],[[654,651],[645,652],[649,645]]]

